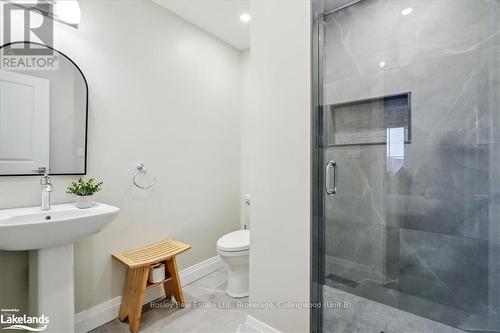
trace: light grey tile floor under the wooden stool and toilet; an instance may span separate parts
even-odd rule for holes
[[[249,332],[243,324],[248,298],[226,295],[227,269],[220,269],[184,286],[187,307],[177,309],[162,299],[146,304],[141,317],[141,333],[235,333]],[[115,319],[91,333],[128,333],[128,323]]]

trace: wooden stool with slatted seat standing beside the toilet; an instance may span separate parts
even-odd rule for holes
[[[128,317],[130,331],[133,333],[139,331],[146,289],[163,284],[165,295],[174,296],[179,306],[184,307],[184,295],[175,256],[190,248],[191,246],[187,244],[167,239],[140,249],[113,254],[115,259],[128,267],[127,283],[118,318],[125,321]],[[160,262],[165,264],[165,280],[154,284],[149,283],[150,266]]]

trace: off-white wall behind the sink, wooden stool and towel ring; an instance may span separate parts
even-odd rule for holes
[[[55,47],[90,87],[88,175],[121,208],[75,247],[76,311],[122,293],[111,253],[174,237],[186,267],[216,255],[240,219],[240,52],[150,1],[80,1],[78,30],[55,23]],[[158,182],[133,187],[136,162]],[[53,202],[74,177],[53,177]],[[38,177],[0,178],[0,208],[38,205]],[[0,252],[0,304],[25,306],[26,253]]]

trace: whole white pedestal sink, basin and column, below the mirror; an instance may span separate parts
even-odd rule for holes
[[[30,250],[30,313],[49,317],[44,332],[74,332],[73,243],[99,232],[118,211],[102,203],[0,210],[0,250]]]

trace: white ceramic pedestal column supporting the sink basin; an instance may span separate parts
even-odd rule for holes
[[[75,330],[73,270],[73,244],[29,252],[30,313],[49,317],[44,332]]]

